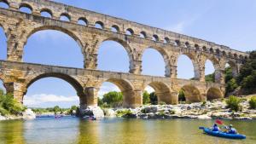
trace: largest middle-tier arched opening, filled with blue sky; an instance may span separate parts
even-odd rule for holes
[[[23,60],[54,66],[84,67],[79,40],[71,33],[35,30],[24,48]]]

